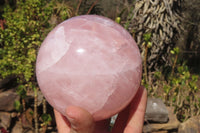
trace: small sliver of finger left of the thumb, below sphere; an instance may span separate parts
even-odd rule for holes
[[[70,123],[60,112],[54,109],[57,129],[59,133],[69,133]]]

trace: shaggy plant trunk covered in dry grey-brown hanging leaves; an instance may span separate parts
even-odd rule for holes
[[[148,49],[148,70],[156,70],[168,63],[168,53],[174,47],[174,38],[181,30],[181,0],[138,0],[132,12],[130,27],[134,32],[142,55],[146,46],[142,45],[144,35],[151,33],[152,47]]]

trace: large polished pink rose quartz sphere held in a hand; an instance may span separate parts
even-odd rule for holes
[[[37,56],[38,84],[47,101],[65,115],[68,106],[102,120],[121,111],[141,81],[139,49],[114,21],[96,15],[68,19],[54,28]]]

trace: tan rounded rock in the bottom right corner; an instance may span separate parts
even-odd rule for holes
[[[200,116],[191,117],[186,122],[181,123],[178,133],[199,133],[200,132]]]

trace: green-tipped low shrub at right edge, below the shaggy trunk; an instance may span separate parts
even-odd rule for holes
[[[148,92],[151,96],[161,97],[166,105],[173,106],[177,118],[185,121],[200,114],[200,90],[197,85],[199,76],[191,74],[186,62],[177,58],[179,52],[179,48],[171,51],[175,57],[172,58],[174,65],[170,74],[160,71],[153,73],[154,81],[148,84]],[[169,70],[167,69],[168,73]]]

